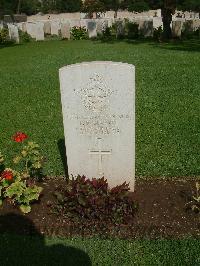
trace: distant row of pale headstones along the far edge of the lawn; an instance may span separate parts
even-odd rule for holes
[[[163,26],[162,19],[132,19],[131,22],[138,24],[138,29],[144,37],[152,37],[153,31],[159,26]],[[69,20],[65,22],[60,21],[40,21],[40,22],[23,22],[18,24],[8,24],[10,39],[15,42],[19,42],[18,28],[23,32],[27,32],[36,41],[43,41],[45,35],[59,35],[63,39],[70,39],[70,30],[73,27],[85,27],[88,31],[89,38],[95,38],[98,34],[101,34],[107,27],[111,27],[113,23],[116,23],[116,34],[123,36],[125,34],[125,20]],[[200,19],[184,20],[178,19],[172,21],[172,34],[174,37],[181,37],[183,28],[187,25],[190,31],[196,31],[200,28]],[[0,24],[0,28],[1,28]]]

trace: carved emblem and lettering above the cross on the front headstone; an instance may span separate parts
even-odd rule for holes
[[[113,135],[119,134],[118,119],[133,119],[132,114],[110,114],[109,98],[114,90],[109,88],[103,77],[94,73],[86,86],[74,89],[80,97],[87,115],[70,114],[68,119],[80,120],[77,131],[80,135]],[[88,114],[88,112],[90,114]]]

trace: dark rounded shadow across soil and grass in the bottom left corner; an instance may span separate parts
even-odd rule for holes
[[[0,261],[2,266],[92,265],[80,249],[61,244],[47,246],[31,220],[14,213],[0,216]]]

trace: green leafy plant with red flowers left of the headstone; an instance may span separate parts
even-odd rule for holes
[[[13,136],[15,142],[24,142],[28,136],[17,132]],[[31,211],[30,204],[39,199],[42,188],[35,185],[32,179],[34,174],[42,168],[42,156],[39,154],[39,146],[34,142],[28,142],[23,146],[20,155],[14,158],[16,164],[21,162],[24,169],[16,171],[5,168],[4,157],[0,153],[0,205],[4,199],[18,205],[23,213]]]

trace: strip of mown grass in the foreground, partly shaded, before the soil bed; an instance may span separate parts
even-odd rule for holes
[[[199,250],[197,239],[128,241],[0,235],[2,266],[198,266]]]

